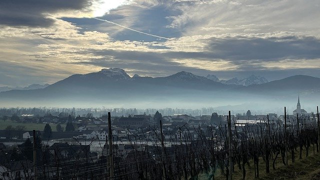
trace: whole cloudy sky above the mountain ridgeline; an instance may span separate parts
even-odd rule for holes
[[[0,0],[0,86],[108,67],[320,77],[319,8],[319,0]]]

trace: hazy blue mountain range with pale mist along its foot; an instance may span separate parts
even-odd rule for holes
[[[56,107],[193,108],[243,102],[282,106],[296,103],[298,94],[305,102],[315,103],[319,91],[320,78],[307,75],[267,82],[255,75],[219,80],[214,75],[204,77],[186,71],[166,77],[130,77],[123,69],[104,68],[73,74],[45,88],[0,92],[0,101],[2,106]]]

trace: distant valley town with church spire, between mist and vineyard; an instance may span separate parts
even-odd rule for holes
[[[207,114],[212,108],[202,108],[201,110],[193,110],[192,112]],[[158,126],[159,120],[161,120],[165,137],[169,139],[172,135],[177,136],[178,127],[205,129],[208,126],[226,123],[227,114],[219,114],[218,112],[212,112],[210,115],[181,113],[186,111],[188,110],[166,108],[161,109],[160,112],[172,115],[162,115],[156,109],[146,109],[146,112],[139,114],[135,108],[114,108],[111,111],[112,134],[120,139],[130,138],[133,133],[141,135],[142,131],[148,132],[146,130],[150,127]],[[292,115],[287,114],[287,117],[295,118],[296,113],[310,119],[315,118],[313,112],[308,113],[301,109],[299,97],[296,109],[293,110]],[[30,130],[32,129],[38,130],[39,134],[42,134],[45,130],[45,124],[50,127],[50,132],[47,136],[41,136],[50,140],[67,138],[105,140],[107,137],[108,116],[101,109],[1,108],[0,115],[3,121],[0,139],[3,141],[31,138]],[[231,116],[234,123],[239,124],[247,122],[254,124],[259,120],[265,121],[267,117],[270,121],[283,121],[284,119],[284,115],[276,113],[253,115],[250,110]],[[194,136],[196,137],[196,134]]]

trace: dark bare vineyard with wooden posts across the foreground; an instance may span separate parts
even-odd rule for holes
[[[229,111],[226,124],[207,128],[185,124],[177,134],[166,134],[160,121],[142,136],[130,132],[127,139],[111,134],[109,118],[101,154],[90,151],[93,141],[48,145],[34,135],[32,142],[0,150],[0,179],[254,179],[261,174],[274,179],[279,171],[290,178],[298,174],[286,167],[297,169],[309,156],[318,156],[318,110],[292,117],[284,108],[284,119],[267,116],[246,124],[231,117]]]

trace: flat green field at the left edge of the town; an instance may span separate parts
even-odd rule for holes
[[[43,130],[45,124],[44,123],[23,123],[23,122],[12,122],[11,120],[0,120],[0,130],[5,129],[8,125],[12,127],[15,126],[24,126],[25,130]],[[50,124],[52,131],[56,131],[57,124]],[[65,129],[65,124],[61,124],[61,126]]]

